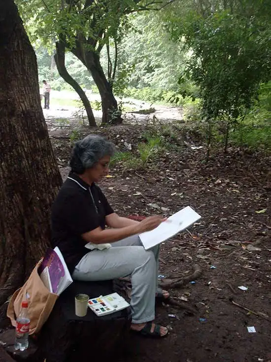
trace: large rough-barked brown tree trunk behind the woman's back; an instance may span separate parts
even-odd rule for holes
[[[44,121],[33,47],[13,0],[0,1],[0,305],[43,255],[62,180]]]

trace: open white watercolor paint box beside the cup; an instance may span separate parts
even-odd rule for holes
[[[118,293],[89,299],[88,307],[98,316],[102,317],[110,313],[121,311],[129,307],[130,304]]]

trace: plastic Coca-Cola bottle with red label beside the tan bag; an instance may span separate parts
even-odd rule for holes
[[[16,325],[15,350],[24,351],[28,348],[28,333],[30,319],[28,317],[28,302],[22,302],[22,310],[19,314]]]

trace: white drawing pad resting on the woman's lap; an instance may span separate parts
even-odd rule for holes
[[[145,250],[173,238],[176,234],[187,229],[201,218],[192,207],[186,206],[175,214],[171,215],[166,221],[162,222],[157,228],[139,234],[140,241]]]

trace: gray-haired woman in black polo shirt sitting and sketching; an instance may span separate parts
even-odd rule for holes
[[[60,248],[74,280],[131,275],[131,329],[163,337],[168,329],[153,322],[159,246],[145,250],[138,234],[156,228],[164,219],[155,215],[138,222],[113,211],[96,184],[108,173],[113,153],[114,145],[98,135],[75,143],[71,172],[52,206],[53,245]],[[169,293],[162,291],[162,296],[167,298]]]

